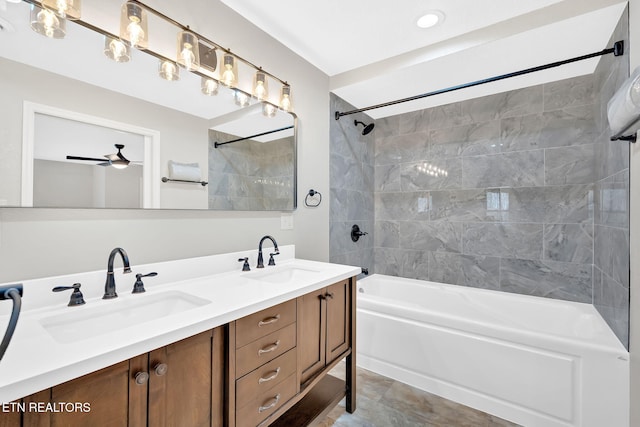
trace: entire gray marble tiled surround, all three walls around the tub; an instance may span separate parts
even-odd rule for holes
[[[377,120],[373,270],[592,303],[627,345],[629,152],[606,103],[628,64]],[[331,259],[364,265],[345,236],[370,231],[370,140],[331,120]]]

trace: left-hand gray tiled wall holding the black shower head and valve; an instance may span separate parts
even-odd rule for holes
[[[331,94],[331,111],[346,111],[353,106]],[[369,124],[367,116],[357,120]],[[377,128],[362,135],[362,126],[354,118],[331,118],[330,170],[330,247],[331,262],[357,265],[373,272],[374,242],[374,149]],[[351,240],[351,227],[358,224],[367,232],[358,242]]]

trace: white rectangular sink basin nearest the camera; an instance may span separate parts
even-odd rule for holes
[[[56,341],[68,343],[112,332],[144,322],[182,313],[211,301],[179,291],[139,295],[109,300],[100,308],[70,308],[64,314],[40,319],[40,324]],[[86,331],[90,330],[91,334]]]

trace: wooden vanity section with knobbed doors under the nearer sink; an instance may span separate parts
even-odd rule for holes
[[[1,414],[0,426],[221,427],[224,335],[203,332],[25,397],[27,410]]]

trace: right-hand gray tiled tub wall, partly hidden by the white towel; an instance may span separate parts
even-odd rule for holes
[[[627,12],[609,46],[628,40]],[[629,77],[629,56],[603,57],[595,72],[600,137],[595,147],[593,304],[620,340],[629,340],[629,143],[609,141],[606,104]]]

